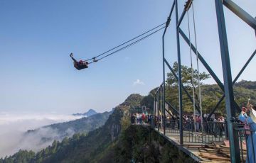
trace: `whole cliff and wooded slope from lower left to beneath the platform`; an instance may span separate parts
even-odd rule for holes
[[[131,96],[132,99],[135,96]],[[139,96],[138,96],[139,97]],[[140,98],[140,97],[139,97]],[[139,103],[136,98],[134,106]],[[1,162],[193,162],[151,128],[130,125],[129,103],[114,108],[105,125],[87,135],[53,142],[41,152],[20,151]],[[20,156],[20,157],[17,157]]]

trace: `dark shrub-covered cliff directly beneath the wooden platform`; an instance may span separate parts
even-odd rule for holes
[[[149,127],[131,125],[114,148],[114,162],[194,162]]]

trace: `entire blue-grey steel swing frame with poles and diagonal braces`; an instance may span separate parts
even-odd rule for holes
[[[192,0],[188,0],[187,4],[192,3]],[[215,72],[210,68],[209,64],[206,62],[206,60],[203,59],[202,55],[200,52],[196,51],[196,47],[191,43],[191,49],[193,50],[193,53],[196,55],[198,53],[198,59],[200,62],[203,64],[203,66],[208,70],[209,74],[215,82],[218,84],[220,89],[224,92],[223,96],[219,99],[218,103],[216,104],[215,108],[213,108],[213,111],[211,111],[210,115],[208,118],[215,113],[216,109],[220,105],[221,101],[225,98],[225,107],[226,107],[226,113],[227,113],[227,118],[228,118],[228,133],[229,133],[229,140],[230,140],[230,158],[231,162],[240,162],[240,149],[238,145],[238,133],[234,130],[233,127],[233,121],[232,119],[235,117],[235,109],[237,111],[240,111],[240,107],[238,106],[238,103],[235,102],[234,100],[234,94],[233,94],[233,84],[238,80],[242,72],[244,72],[245,68],[247,65],[250,63],[253,57],[255,57],[256,50],[252,52],[252,55],[249,57],[245,65],[240,69],[240,72],[238,75],[235,77],[234,80],[232,80],[231,77],[231,69],[230,69],[230,59],[229,59],[229,52],[228,52],[228,39],[227,39],[227,34],[226,34],[226,28],[225,28],[225,15],[223,11],[223,5],[230,9],[235,15],[237,15],[239,18],[242,19],[242,21],[245,21],[250,27],[252,27],[255,30],[255,35],[256,35],[256,18],[253,18],[250,16],[249,13],[244,11],[240,6],[235,4],[231,0],[215,0],[215,9],[216,9],[216,16],[217,16],[217,21],[218,21],[218,34],[219,34],[219,40],[220,40],[220,55],[221,55],[221,61],[222,61],[222,66],[223,66],[223,79],[224,79],[224,84],[220,81],[220,79],[217,77]],[[165,126],[166,126],[166,115],[165,115],[165,103],[167,103],[171,109],[178,115],[179,118],[179,126],[180,126],[180,144],[183,145],[183,106],[182,106],[182,91],[185,92],[185,94],[188,96],[188,99],[193,103],[193,98],[191,97],[190,94],[188,94],[188,91],[186,91],[185,87],[182,84],[181,81],[181,50],[180,50],[180,35],[185,40],[185,42],[189,45],[189,39],[186,36],[185,33],[183,33],[183,30],[181,30],[180,25],[183,21],[183,17],[186,14],[186,11],[188,9],[186,8],[188,6],[185,6],[183,9],[183,12],[181,13],[181,16],[178,17],[178,0],[174,0],[172,6],[171,6],[171,11],[169,13],[168,20],[166,22],[166,28],[164,29],[164,34],[162,36],[162,46],[163,46],[163,83],[159,86],[159,89],[157,89],[156,94],[154,96],[154,99],[158,99],[159,101],[159,107],[158,110],[160,111],[160,97],[162,97],[162,113],[164,114],[163,118],[163,129],[164,129],[164,134],[165,134]],[[166,34],[166,30],[169,26],[169,23],[171,21],[171,15],[174,11],[174,8],[176,10],[175,12],[175,19],[176,19],[176,43],[177,43],[177,57],[178,57],[178,76],[174,72],[174,70],[171,68],[169,62],[167,62],[164,54],[164,37]],[[167,67],[169,67],[169,70],[171,71],[172,74],[174,74],[174,77],[178,80],[178,102],[179,102],[179,112],[171,106],[171,103],[168,103],[165,99],[165,64]],[[162,91],[162,96],[160,96]],[[158,98],[156,97],[158,96]],[[199,107],[196,106],[196,110],[200,113]],[[155,111],[156,112],[156,111]],[[156,113],[154,113],[156,115]],[[160,127],[160,126],[158,126]]]

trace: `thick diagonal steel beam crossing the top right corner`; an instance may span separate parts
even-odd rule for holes
[[[252,16],[250,16],[249,13],[244,11],[240,6],[235,4],[231,0],[223,0],[223,4],[230,9],[235,15],[237,15],[239,18],[242,19],[242,21],[245,21],[249,26],[251,26],[254,30],[256,30],[256,20]]]

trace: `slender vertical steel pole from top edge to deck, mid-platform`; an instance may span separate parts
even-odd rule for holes
[[[179,129],[180,129],[180,144],[183,145],[183,110],[182,110],[182,81],[181,81],[181,49],[180,40],[178,32],[178,0],[175,0],[175,10],[176,10],[176,38],[177,38],[177,55],[178,55],[178,103],[179,103]]]

